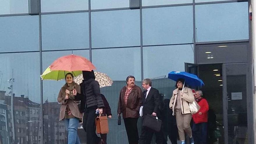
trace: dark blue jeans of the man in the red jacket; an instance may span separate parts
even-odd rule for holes
[[[207,144],[207,122],[193,124],[193,138],[196,144]]]

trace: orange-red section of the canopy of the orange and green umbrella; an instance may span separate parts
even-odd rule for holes
[[[74,54],[68,56],[62,56],[56,59],[49,67],[51,71],[54,70],[65,70],[65,71],[92,71],[96,67],[86,58],[82,56],[77,56]]]

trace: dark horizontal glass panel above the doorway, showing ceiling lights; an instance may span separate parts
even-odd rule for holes
[[[247,61],[247,43],[199,45],[197,63],[232,63]]]

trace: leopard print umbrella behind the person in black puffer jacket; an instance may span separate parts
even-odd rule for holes
[[[112,86],[113,81],[108,75],[106,75],[102,72],[94,72],[94,74],[95,74],[95,80],[99,82],[100,88],[106,87],[106,86]],[[77,77],[75,77],[74,82],[77,84],[82,83],[83,82],[83,74],[80,74]]]

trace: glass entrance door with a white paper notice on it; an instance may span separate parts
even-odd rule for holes
[[[248,143],[247,63],[225,63],[223,74],[223,123],[226,144]]]

